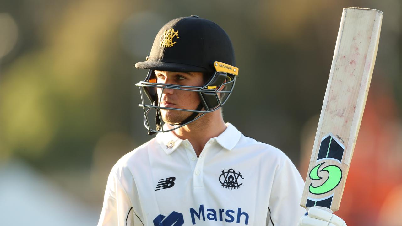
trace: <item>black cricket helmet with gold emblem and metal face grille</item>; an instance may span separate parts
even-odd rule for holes
[[[238,75],[232,42],[226,32],[212,21],[198,16],[176,18],[164,25],[156,35],[151,53],[146,59],[135,64],[135,67],[149,69],[146,79],[136,84],[140,88],[142,104],[139,106],[144,108],[144,125],[149,130],[148,134],[173,130],[160,130],[160,109],[193,112],[174,129],[219,109],[232,93]],[[160,84],[156,83],[154,70],[203,72],[209,74],[210,78],[203,86]],[[197,109],[160,107],[156,92],[158,88],[162,92],[164,88],[198,92],[201,103]],[[150,104],[145,103],[144,93]],[[151,109],[156,110],[154,127],[151,127],[148,117]]]

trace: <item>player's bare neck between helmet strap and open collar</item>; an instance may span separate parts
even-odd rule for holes
[[[199,156],[208,140],[219,136],[226,128],[222,113],[218,110],[207,113],[173,132],[182,140],[188,139]]]

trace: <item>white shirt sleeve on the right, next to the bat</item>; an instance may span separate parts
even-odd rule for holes
[[[304,181],[286,156],[275,172],[269,208],[268,226],[297,226],[306,209],[300,206]]]

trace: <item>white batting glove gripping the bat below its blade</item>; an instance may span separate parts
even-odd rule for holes
[[[300,218],[298,226],[346,226],[346,223],[335,214],[312,207],[307,216]]]

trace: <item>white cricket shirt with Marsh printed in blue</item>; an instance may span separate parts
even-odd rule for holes
[[[291,160],[226,125],[199,158],[172,131],[123,156],[98,226],[296,226],[304,182]]]

